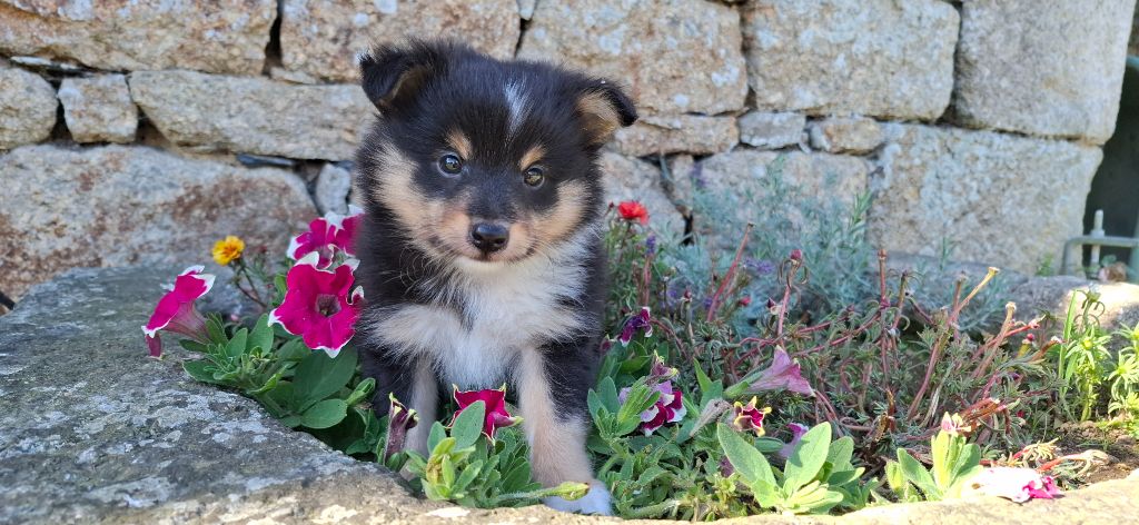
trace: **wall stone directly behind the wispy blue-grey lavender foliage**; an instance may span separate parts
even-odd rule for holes
[[[809,228],[803,207],[853,204],[867,190],[869,173],[870,163],[858,157],[736,150],[693,165],[687,177],[696,194],[678,197],[693,202],[703,192],[711,198],[711,203],[695,205],[696,229],[712,244],[732,248],[738,239],[721,239],[719,233],[759,222],[760,214],[767,214],[761,207],[781,207],[778,216],[786,218],[789,227]],[[680,180],[686,174],[677,172],[673,177]]]

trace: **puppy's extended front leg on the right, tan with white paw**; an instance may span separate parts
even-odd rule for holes
[[[530,466],[542,486],[563,482],[589,483],[589,493],[576,501],[548,498],[544,503],[570,512],[612,514],[609,492],[593,478],[585,451],[588,405],[585,395],[593,382],[593,363],[583,348],[548,345],[523,352],[518,386],[518,410],[530,442]]]

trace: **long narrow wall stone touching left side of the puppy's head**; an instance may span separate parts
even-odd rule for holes
[[[134,72],[131,96],[158,131],[192,150],[352,158],[375,106],[358,85],[295,85],[187,71]]]

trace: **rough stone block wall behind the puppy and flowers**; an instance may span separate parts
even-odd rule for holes
[[[1080,233],[1134,2],[0,0],[0,290],[202,261],[227,233],[279,249],[343,210],[375,113],[353,57],[404,35],[629,87],[644,118],[603,161],[661,228],[695,174],[786,161],[818,194],[872,191],[883,247],[1031,271]]]

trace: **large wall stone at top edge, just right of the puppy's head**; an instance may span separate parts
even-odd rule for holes
[[[629,88],[645,114],[744,106],[739,14],[704,0],[542,0],[521,58],[547,59]]]

